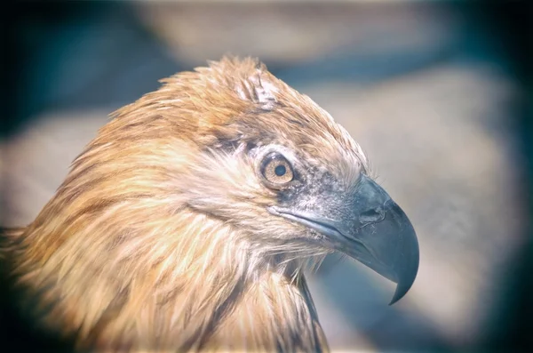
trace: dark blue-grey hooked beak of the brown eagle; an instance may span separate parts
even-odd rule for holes
[[[419,254],[415,229],[402,208],[365,175],[350,198],[352,202],[345,206],[346,212],[336,212],[337,219],[276,206],[269,211],[318,231],[325,236],[323,245],[346,253],[396,283],[389,304],[392,305],[402,299],[417,277]]]

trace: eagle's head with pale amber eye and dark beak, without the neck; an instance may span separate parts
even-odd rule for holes
[[[348,132],[257,60],[197,71],[166,81],[200,90],[188,104],[208,112],[187,109],[195,157],[174,176],[187,207],[238,229],[259,262],[345,253],[397,283],[391,303],[400,300],[418,272],[417,237]],[[171,113],[186,103],[158,104]]]

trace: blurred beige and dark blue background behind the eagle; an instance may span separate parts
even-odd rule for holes
[[[157,80],[257,56],[360,142],[418,231],[418,279],[392,307],[394,285],[353,261],[311,275],[330,348],[533,351],[525,3],[16,3],[3,21],[0,224],[32,221],[107,115]],[[16,341],[0,320],[1,341]]]

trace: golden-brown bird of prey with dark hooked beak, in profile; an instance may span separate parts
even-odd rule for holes
[[[116,111],[0,256],[24,312],[80,351],[327,351],[303,269],[397,284],[418,240],[362,148],[259,60],[225,57]],[[349,278],[346,278],[349,280]]]

